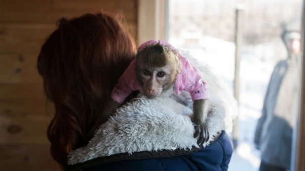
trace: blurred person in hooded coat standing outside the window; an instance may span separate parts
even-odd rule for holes
[[[260,171],[290,169],[301,51],[301,20],[288,22],[281,34],[287,59],[274,68],[258,120],[254,143],[261,151]]]

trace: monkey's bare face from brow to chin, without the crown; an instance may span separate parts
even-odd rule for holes
[[[149,98],[158,97],[163,90],[167,90],[173,84],[172,71],[168,67],[142,68],[138,70],[138,79],[142,85],[143,93]]]

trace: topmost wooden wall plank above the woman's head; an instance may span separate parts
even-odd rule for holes
[[[55,23],[63,16],[109,11],[136,20],[136,0],[1,0],[0,22]]]

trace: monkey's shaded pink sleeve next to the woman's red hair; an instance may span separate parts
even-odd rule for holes
[[[122,104],[133,91],[140,89],[140,84],[136,77],[135,64],[136,60],[134,59],[118,78],[111,92],[111,98],[117,103]]]

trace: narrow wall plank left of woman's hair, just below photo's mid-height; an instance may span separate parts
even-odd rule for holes
[[[44,99],[42,84],[0,84],[0,101]]]

